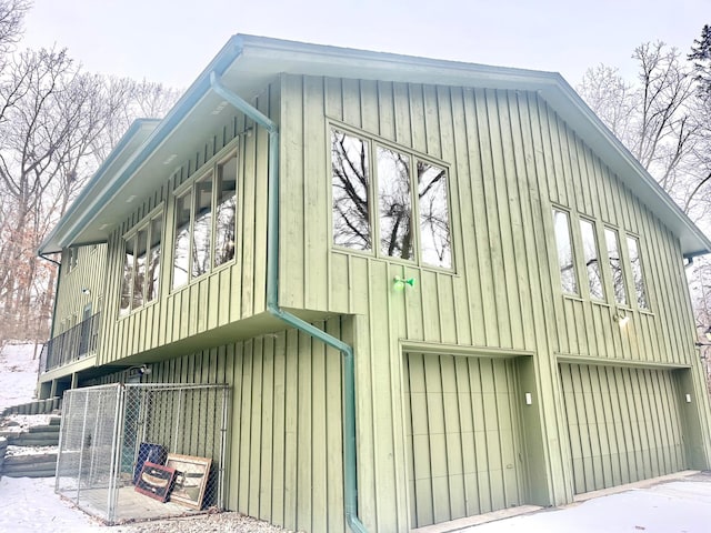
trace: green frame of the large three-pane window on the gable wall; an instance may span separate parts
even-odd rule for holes
[[[367,158],[367,169],[368,169],[368,225],[370,231],[370,249],[356,249],[349,248],[347,245],[337,244],[334,242],[334,232],[333,232],[333,172],[332,172],[332,150],[331,150],[331,139],[332,132],[338,131],[340,133],[344,133],[350,137],[354,137],[368,145],[368,158]],[[371,258],[378,258],[385,261],[392,261],[402,265],[421,268],[421,269],[431,269],[438,272],[450,272],[454,273],[457,271],[457,259],[455,259],[455,250],[454,250],[454,238],[453,238],[453,212],[452,212],[452,194],[451,194],[451,164],[433,158],[431,155],[421,153],[410,147],[405,147],[402,144],[394,143],[392,141],[388,141],[387,139],[382,139],[381,137],[369,133],[364,130],[354,128],[352,125],[343,124],[337,120],[329,119],[326,123],[326,137],[328,142],[327,150],[327,175],[329,177],[329,235],[330,235],[330,245],[333,250],[354,253],[359,255],[367,255]],[[382,148],[384,150],[400,153],[402,155],[407,155],[409,158],[409,169],[408,169],[408,180],[409,180],[409,193],[410,193],[410,224],[412,225],[412,242],[411,248],[413,251],[412,259],[402,259],[397,255],[388,255],[383,253],[381,250],[381,217],[380,217],[380,185],[381,179],[378,170],[378,149]],[[420,210],[420,199],[419,199],[419,183],[417,179],[417,167],[418,162],[422,162],[429,164],[431,167],[439,168],[445,173],[445,194],[447,194],[447,227],[449,232],[449,266],[441,266],[437,264],[431,264],[424,261],[423,259],[423,239],[422,239],[422,227],[421,227],[421,210]]]

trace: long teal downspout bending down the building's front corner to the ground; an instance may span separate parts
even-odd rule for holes
[[[353,533],[368,533],[358,517],[358,477],[356,451],[356,371],[353,349],[340,339],[301,320],[279,306],[279,129],[258,109],[227,89],[216,72],[210,73],[212,90],[269,132],[269,175],[267,211],[267,310],[272,315],[319,339],[343,355],[343,507]]]

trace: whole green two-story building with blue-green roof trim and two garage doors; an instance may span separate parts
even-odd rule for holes
[[[407,532],[711,466],[711,242],[557,73],[236,36],[42,243],[42,396],[229,383],[228,507]]]

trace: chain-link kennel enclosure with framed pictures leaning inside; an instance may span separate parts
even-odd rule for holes
[[[64,393],[56,492],[107,524],[224,509],[228,385]]]

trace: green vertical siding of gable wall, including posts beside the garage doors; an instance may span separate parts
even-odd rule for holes
[[[412,525],[401,340],[534,353],[545,501],[570,501],[557,355],[693,364],[678,239],[533,92],[283,74],[281,94],[279,298],[356,315],[365,525]],[[452,271],[331,245],[331,121],[448,164]],[[613,303],[563,296],[553,205],[640,238],[650,312],[621,330]]]

